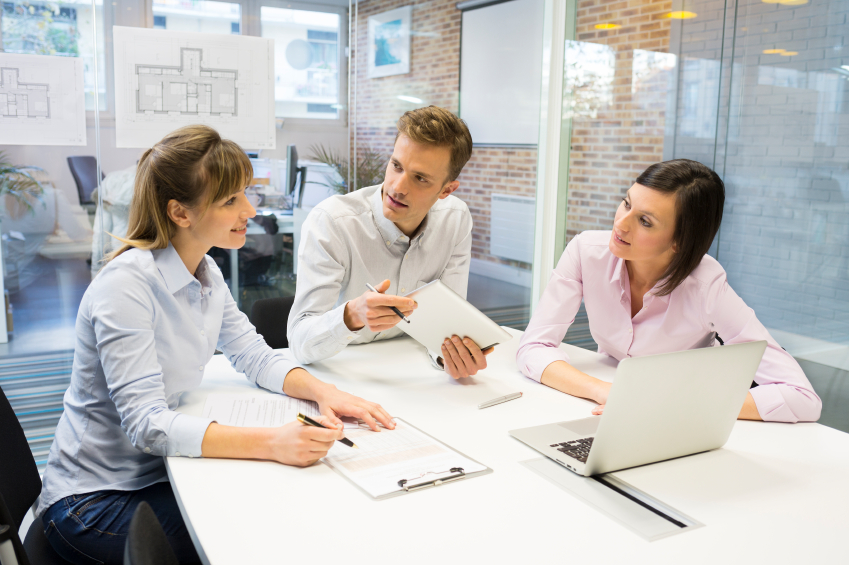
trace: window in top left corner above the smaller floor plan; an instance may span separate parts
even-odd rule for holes
[[[86,110],[94,111],[94,57],[100,110],[106,110],[106,60],[103,43],[103,0],[92,10],[90,0],[0,2],[3,50],[8,53],[81,57]],[[92,18],[97,37],[92,37]],[[97,49],[95,50],[95,45]]]

